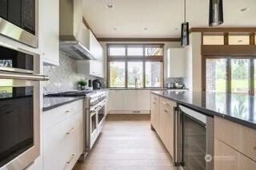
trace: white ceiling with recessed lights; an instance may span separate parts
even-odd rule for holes
[[[183,0],[83,0],[83,2],[84,16],[97,38],[180,37]],[[109,3],[114,4],[113,9],[106,7]],[[222,27],[256,27],[256,0],[223,0],[223,3]],[[208,26],[208,6],[209,0],[187,0],[187,20],[190,22],[190,27]],[[241,12],[245,7],[249,10]]]

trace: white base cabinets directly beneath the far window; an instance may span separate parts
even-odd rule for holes
[[[110,113],[150,113],[150,90],[110,90]]]

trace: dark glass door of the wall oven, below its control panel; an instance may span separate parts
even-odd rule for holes
[[[0,169],[23,169],[39,156],[39,83],[0,79]]]

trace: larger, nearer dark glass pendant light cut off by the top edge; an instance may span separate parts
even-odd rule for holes
[[[209,26],[219,26],[223,23],[222,0],[210,0]]]

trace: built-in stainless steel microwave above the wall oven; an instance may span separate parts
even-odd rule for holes
[[[0,0],[0,34],[38,47],[38,0]]]

